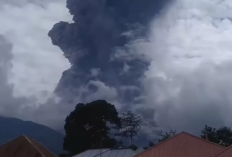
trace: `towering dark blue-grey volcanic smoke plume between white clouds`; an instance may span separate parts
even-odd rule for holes
[[[121,104],[141,103],[135,98],[140,96],[139,79],[149,62],[122,51],[131,40],[146,36],[149,22],[170,1],[67,0],[74,23],[59,22],[48,34],[71,63],[56,93],[76,103],[73,98],[89,100],[90,94],[100,93],[104,86]],[[94,98],[105,98],[106,91]]]

